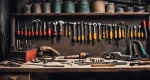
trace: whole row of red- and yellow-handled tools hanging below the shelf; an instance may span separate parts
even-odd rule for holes
[[[73,45],[85,43],[95,45],[101,40],[106,40],[110,44],[119,40],[145,40],[147,39],[147,27],[144,20],[141,25],[129,26],[125,22],[119,24],[102,24],[92,22],[65,22],[62,20],[54,22],[42,22],[40,19],[32,20],[31,25],[20,27],[19,21],[16,29],[18,39],[47,39],[55,37],[70,37]],[[20,42],[20,40],[17,40]],[[118,46],[118,45],[117,45]],[[118,46],[119,47],[119,46]]]

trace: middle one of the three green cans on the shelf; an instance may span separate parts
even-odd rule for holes
[[[64,13],[75,13],[75,2],[72,0],[63,1],[63,12]]]

